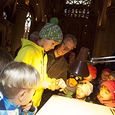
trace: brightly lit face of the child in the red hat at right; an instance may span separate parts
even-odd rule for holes
[[[100,92],[99,92],[98,96],[102,100],[111,100],[112,99],[112,95],[106,86],[100,87]]]

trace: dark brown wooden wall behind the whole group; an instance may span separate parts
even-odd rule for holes
[[[88,0],[84,0],[88,1]],[[59,19],[64,35],[74,34],[81,47],[90,49],[93,56],[114,52],[115,4],[111,0],[91,0],[91,4],[66,4],[66,0],[2,0],[0,1],[0,47],[12,54],[20,47],[28,12],[32,15],[30,33],[39,30],[51,17]],[[109,3],[110,4],[110,3]],[[3,18],[6,13],[6,19]]]

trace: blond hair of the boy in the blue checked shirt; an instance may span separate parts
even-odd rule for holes
[[[11,62],[1,72],[0,90],[13,98],[21,89],[37,88],[40,76],[36,69],[23,62]]]

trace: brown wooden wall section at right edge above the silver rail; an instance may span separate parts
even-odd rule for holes
[[[115,52],[115,1],[108,6],[105,12],[105,20],[97,28],[94,44],[95,56],[111,56]]]

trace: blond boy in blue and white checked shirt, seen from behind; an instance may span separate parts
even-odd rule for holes
[[[0,74],[0,115],[22,115],[28,111],[39,81],[39,73],[32,66],[9,63]]]

